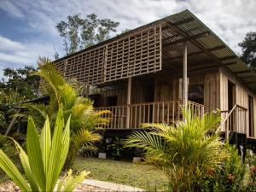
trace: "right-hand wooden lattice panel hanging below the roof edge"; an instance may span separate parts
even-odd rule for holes
[[[160,40],[156,26],[108,44],[105,81],[160,71]]]

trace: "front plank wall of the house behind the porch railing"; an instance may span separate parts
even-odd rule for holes
[[[143,81],[132,81],[131,104],[146,101],[147,86]],[[154,79],[154,101],[170,102],[179,100],[179,79],[172,75],[158,75]],[[189,77],[189,85],[201,84],[204,86],[204,105],[206,112],[220,108],[219,75],[218,73],[200,74]],[[118,105],[126,105],[127,84],[118,89],[104,90],[101,96],[101,106],[107,106],[108,96],[118,96]]]

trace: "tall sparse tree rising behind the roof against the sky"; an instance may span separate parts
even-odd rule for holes
[[[93,44],[107,40],[111,32],[116,32],[119,22],[109,19],[98,19],[90,14],[82,18],[80,14],[67,16],[67,21],[61,20],[56,25],[63,39],[66,55],[90,47]]]

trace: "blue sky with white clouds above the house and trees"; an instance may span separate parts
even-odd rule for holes
[[[189,9],[226,44],[256,31],[256,0],[0,0],[0,77],[5,67],[37,66],[39,55],[64,54],[55,29],[67,15],[95,13],[119,21],[118,33]]]

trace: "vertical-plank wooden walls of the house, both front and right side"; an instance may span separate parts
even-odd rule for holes
[[[254,119],[256,119],[256,96],[246,88],[236,77],[221,68],[212,73],[189,75],[189,85],[202,84],[204,86],[205,112],[216,108],[221,111],[228,110],[228,81],[236,85],[235,102],[241,107],[248,108],[248,96],[253,96]],[[179,99],[179,78],[168,74],[155,75],[154,77],[154,102],[177,101]],[[118,105],[126,104],[127,84],[122,84],[117,89],[105,90],[101,96],[101,106],[107,105],[108,96],[118,96]],[[131,104],[147,102],[148,94],[145,82],[132,80]],[[248,114],[247,114],[248,122]],[[247,123],[247,135],[248,123]],[[254,120],[254,134],[256,134],[256,120]]]

